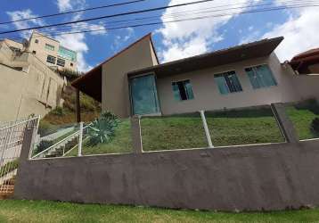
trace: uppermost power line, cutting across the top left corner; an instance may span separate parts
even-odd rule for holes
[[[102,8],[110,8],[110,7],[115,7],[115,6],[125,5],[125,4],[135,4],[135,3],[140,3],[140,2],[144,2],[144,1],[146,1],[146,0],[135,0],[135,1],[129,1],[129,2],[124,2],[124,3],[119,3],[119,4],[107,4],[107,5],[86,8],[86,9],[80,9],[80,10],[75,10],[75,11],[69,11],[69,12],[60,12],[60,13],[54,13],[54,14],[41,15],[41,16],[37,16],[37,17],[30,17],[30,18],[20,19],[20,20],[16,20],[16,21],[2,21],[2,22],[0,22],[0,25],[15,23],[18,21],[30,21],[30,20],[49,18],[49,17],[59,16],[59,15],[70,14],[70,13],[92,11],[92,10],[102,9]]]

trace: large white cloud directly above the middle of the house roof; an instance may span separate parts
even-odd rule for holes
[[[255,4],[261,0],[216,0],[213,2],[203,4],[192,4],[185,7],[169,8],[164,12],[162,21],[170,21],[165,19],[171,13],[178,13],[184,11],[207,10],[212,7],[220,7],[219,9],[226,9],[226,5],[236,4],[240,7],[245,4]],[[171,0],[169,5],[182,4],[192,2],[192,0]],[[229,8],[229,7],[228,7]],[[231,12],[228,10],[227,12]],[[238,9],[236,12],[241,12]],[[202,15],[220,14],[221,12],[200,12],[195,14],[186,14],[187,17],[197,17]],[[233,18],[233,15],[208,18],[197,21],[182,21],[175,23],[166,23],[158,32],[163,36],[163,44],[166,49],[160,52],[164,62],[173,61],[176,59],[192,56],[195,54],[202,54],[209,50],[209,45],[217,43],[223,39],[223,35],[217,32],[221,26],[225,25]]]

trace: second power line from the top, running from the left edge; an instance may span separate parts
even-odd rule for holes
[[[90,18],[90,19],[85,19],[85,20],[79,20],[79,21],[68,21],[68,22],[55,23],[55,24],[45,25],[45,26],[37,26],[37,27],[32,27],[32,28],[9,30],[9,31],[0,32],[0,34],[20,32],[20,31],[26,31],[26,30],[31,30],[31,29],[44,29],[44,28],[50,28],[50,27],[57,27],[57,26],[75,24],[75,23],[78,23],[78,22],[85,22],[85,21],[96,21],[96,20],[114,18],[114,17],[124,16],[124,15],[138,14],[138,13],[143,13],[143,12],[153,12],[153,11],[159,11],[159,10],[164,10],[164,9],[168,9],[168,8],[186,6],[186,5],[191,5],[191,4],[200,4],[200,3],[212,2],[212,1],[214,1],[214,0],[200,0],[200,1],[195,1],[195,2],[191,2],[191,3],[173,4],[173,5],[162,6],[162,7],[151,8],[151,9],[145,9],[145,10],[139,10],[139,11],[122,12],[122,13],[118,13],[118,14],[105,15],[105,16],[100,16],[100,17],[95,17],[95,18]]]

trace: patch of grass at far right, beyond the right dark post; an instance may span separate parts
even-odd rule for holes
[[[314,111],[307,108],[296,108],[296,106],[293,105],[287,107],[286,111],[296,128],[299,139],[319,137],[318,134],[315,134],[315,132],[311,130],[311,123],[315,117],[319,118],[318,114],[315,114]]]

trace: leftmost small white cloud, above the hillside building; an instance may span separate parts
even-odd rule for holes
[[[21,11],[13,11],[13,12],[6,12],[11,21],[17,21],[22,19],[34,18],[37,17],[37,14],[34,14],[30,9],[21,10]],[[26,29],[31,27],[32,25],[43,26],[45,22],[41,19],[29,20],[29,21],[17,21],[13,23],[16,29]],[[25,38],[29,38],[29,35],[32,31],[23,31],[20,32],[20,35]]]

